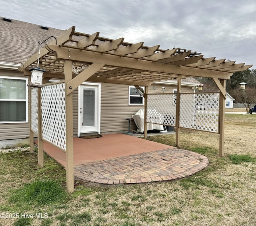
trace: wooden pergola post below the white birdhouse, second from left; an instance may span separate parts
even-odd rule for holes
[[[38,89],[37,106],[38,106],[38,168],[44,167],[44,142],[42,140],[42,113],[41,113],[41,89]]]

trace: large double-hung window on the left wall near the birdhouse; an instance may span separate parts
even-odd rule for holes
[[[28,122],[27,78],[0,76],[0,123]]]

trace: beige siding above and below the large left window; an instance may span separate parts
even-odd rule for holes
[[[14,70],[0,70],[2,76],[23,77]],[[29,123],[0,123],[0,140],[22,139],[29,136]]]

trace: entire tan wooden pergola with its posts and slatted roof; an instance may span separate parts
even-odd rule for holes
[[[31,68],[37,67],[38,53],[23,63],[20,71],[25,76],[30,76]],[[226,99],[226,80],[235,71],[244,71],[252,65],[226,62],[225,59],[215,59],[215,57],[204,58],[201,53],[192,52],[186,49],[173,48],[162,50],[160,46],[148,47],[143,42],[132,44],[124,42],[124,38],[112,40],[102,38],[99,32],[95,34],[83,34],[75,32],[75,27],[64,31],[60,36],[40,50],[39,66],[45,70],[43,83],[52,78],[64,79],[62,90],[64,90],[64,124],[66,141],[66,173],[67,189],[74,190],[74,170],[73,170],[73,107],[72,91],[84,81],[100,83],[128,84],[139,87],[145,86],[145,124],[144,137],[147,136],[147,95],[148,86],[154,81],[177,79],[177,105],[176,105],[176,145],[180,144],[180,87],[181,79],[187,77],[209,77],[212,78],[220,90],[219,97],[219,125],[220,134],[220,157],[224,155],[224,107]],[[38,88],[33,88],[38,89]],[[32,89],[31,89],[32,90]],[[40,90],[40,89],[38,89]],[[30,150],[33,150],[34,133],[31,127],[33,106],[31,104],[32,91],[30,91]],[[42,94],[41,94],[42,95]],[[43,140],[42,119],[41,119],[41,95],[38,96],[38,165],[43,167]],[[41,106],[41,107],[40,107]],[[62,117],[62,116],[61,116]],[[62,118],[63,121],[63,118]],[[61,138],[57,138],[60,140]],[[50,142],[51,143],[51,142]],[[56,145],[56,144],[54,144]],[[58,146],[58,145],[56,145]]]

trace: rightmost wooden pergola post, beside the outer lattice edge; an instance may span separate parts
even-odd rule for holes
[[[226,79],[220,79],[220,83],[224,90],[226,90]],[[225,121],[225,99],[226,97],[220,93],[220,116],[219,116],[219,130],[220,130],[220,146],[219,155],[224,157],[224,121]]]

